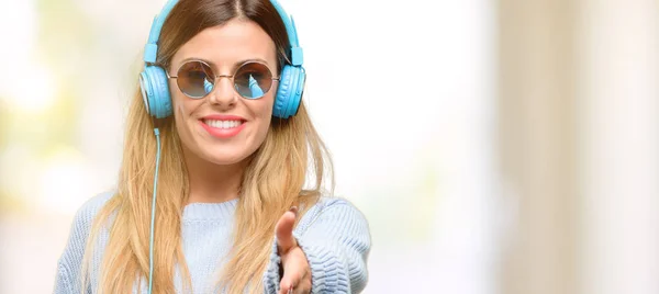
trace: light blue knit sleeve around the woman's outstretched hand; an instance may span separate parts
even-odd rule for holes
[[[293,236],[311,268],[311,293],[360,293],[368,281],[371,242],[366,218],[345,200],[332,200],[310,214],[311,219],[300,222]],[[272,249],[266,293],[277,293],[281,279],[276,242]]]

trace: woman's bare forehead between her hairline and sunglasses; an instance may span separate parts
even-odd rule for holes
[[[185,43],[175,54],[172,66],[176,68],[189,58],[208,60],[223,70],[248,59],[263,59],[275,66],[277,54],[272,38],[257,23],[234,19],[208,27]]]

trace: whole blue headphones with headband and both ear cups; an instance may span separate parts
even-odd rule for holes
[[[142,90],[142,98],[144,99],[146,110],[155,118],[165,118],[172,114],[167,75],[164,68],[154,64],[158,53],[158,39],[160,38],[163,23],[177,2],[178,0],[167,1],[163,11],[156,15],[148,35],[148,42],[144,47],[145,66],[144,70],[139,74],[139,89]],[[277,9],[286,25],[291,47],[291,65],[284,65],[281,70],[272,115],[280,118],[288,118],[298,113],[306,75],[302,67],[302,48],[298,42],[295,23],[277,0],[270,0],[270,2]]]

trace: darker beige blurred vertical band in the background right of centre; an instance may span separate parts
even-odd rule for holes
[[[574,1],[500,1],[504,196],[518,204],[501,293],[576,293]]]

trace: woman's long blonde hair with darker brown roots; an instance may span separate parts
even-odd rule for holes
[[[181,0],[167,18],[160,35],[157,64],[169,67],[176,50],[206,27],[245,18],[259,24],[275,42],[278,71],[288,60],[288,35],[268,0]],[[97,215],[83,260],[83,283],[92,261],[99,233],[108,226],[110,239],[99,273],[100,293],[131,293],[149,270],[149,223],[156,142],[154,124],[137,90],[133,94],[116,194]],[[181,246],[182,210],[189,195],[189,179],[182,148],[171,117],[159,122],[161,159],[156,204],[154,242],[154,293],[175,293],[175,265],[191,292],[190,272]],[[233,247],[219,284],[228,293],[263,292],[263,274],[272,250],[275,225],[292,205],[309,208],[317,202],[323,182],[332,190],[332,161],[306,109],[295,116],[275,118],[263,145],[249,158],[236,206]],[[314,181],[305,186],[308,167]],[[109,223],[108,220],[112,220]],[[85,287],[83,287],[85,289]]]

